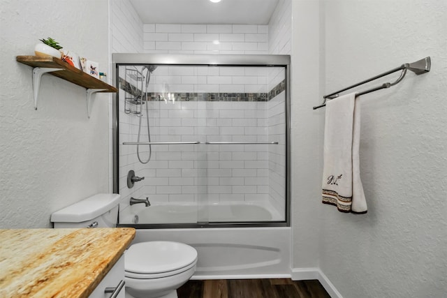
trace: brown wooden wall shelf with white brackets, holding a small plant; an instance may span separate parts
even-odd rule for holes
[[[37,99],[41,84],[41,77],[45,73],[60,77],[68,82],[77,84],[87,89],[87,114],[90,117],[91,95],[96,92],[117,92],[118,89],[109,84],[92,77],[82,70],[56,57],[17,56],[17,62],[34,67],[33,91],[34,108],[37,110]]]

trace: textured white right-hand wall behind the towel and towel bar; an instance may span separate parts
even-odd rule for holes
[[[360,99],[369,210],[318,206],[321,270],[345,298],[446,297],[447,2],[324,5],[326,92],[426,56],[432,70]]]

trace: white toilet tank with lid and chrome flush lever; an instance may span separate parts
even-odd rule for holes
[[[50,221],[54,228],[115,228],[120,195],[98,193],[54,212]]]

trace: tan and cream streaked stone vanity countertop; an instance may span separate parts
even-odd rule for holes
[[[0,297],[89,297],[133,228],[0,230]]]

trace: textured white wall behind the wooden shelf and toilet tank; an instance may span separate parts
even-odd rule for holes
[[[108,191],[108,98],[15,61],[50,36],[108,69],[108,1],[1,0],[0,228],[50,228],[50,214]]]

